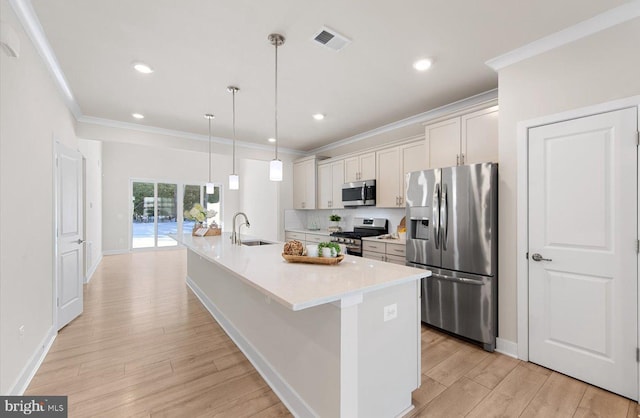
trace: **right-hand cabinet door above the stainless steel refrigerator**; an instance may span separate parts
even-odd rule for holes
[[[498,162],[498,106],[462,116],[465,164]]]

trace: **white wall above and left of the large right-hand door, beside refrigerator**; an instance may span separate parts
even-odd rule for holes
[[[517,341],[516,127],[519,121],[640,94],[640,19],[499,73],[499,336]],[[576,158],[580,158],[576,155]],[[567,161],[571,164],[571,161]]]

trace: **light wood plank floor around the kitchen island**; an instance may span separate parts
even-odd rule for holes
[[[291,416],[185,285],[184,250],[104,257],[27,395],[70,417]],[[637,404],[422,328],[412,417],[638,418]]]

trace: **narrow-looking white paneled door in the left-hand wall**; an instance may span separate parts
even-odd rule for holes
[[[82,313],[82,155],[56,145],[58,329]]]

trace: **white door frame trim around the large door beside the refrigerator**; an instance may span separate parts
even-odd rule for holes
[[[640,123],[640,96],[600,103],[593,106],[572,109],[518,122],[517,125],[517,214],[516,214],[516,276],[517,276],[517,333],[518,358],[529,361],[529,262],[526,254],[529,251],[529,129],[571,119],[607,113],[625,108],[635,107]],[[640,148],[639,148],[640,149]],[[640,164],[640,151],[638,151]],[[638,174],[637,174],[638,175]],[[640,176],[638,179],[638,196],[640,196]],[[640,237],[640,206],[638,209],[638,237]],[[638,274],[640,276],[640,257],[637,258]],[[638,336],[640,338],[640,286],[638,286]],[[640,341],[638,341],[640,347]],[[638,364],[640,376],[640,363]],[[640,399],[640,382],[638,399]]]

